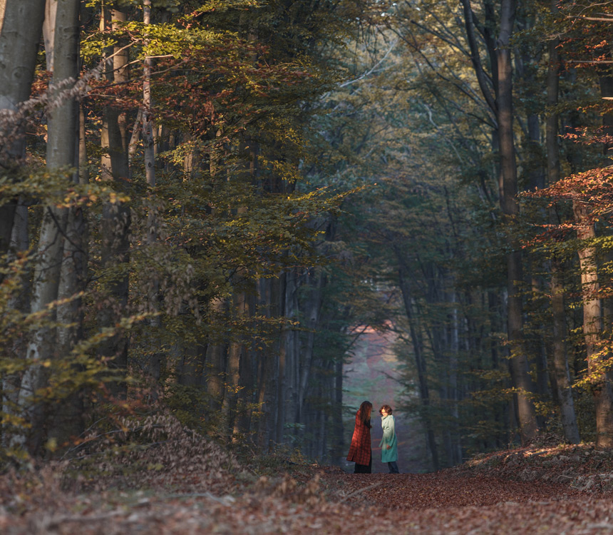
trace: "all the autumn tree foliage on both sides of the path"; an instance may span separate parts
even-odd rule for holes
[[[157,0],[152,24],[143,24],[141,4],[126,0],[104,6],[123,9],[128,21],[101,31],[103,5],[89,1],[92,18],[80,47],[88,83],[79,98],[91,182],[73,183],[73,169],[43,170],[40,126],[29,137],[34,164],[0,177],[3,198],[29,205],[32,237],[42,206],[87,210],[86,284],[74,287],[68,300],[29,314],[29,297],[20,300],[33,276],[29,256],[1,263],[4,396],[17,392],[11,380],[18,388],[17,375],[39,366],[45,379],[29,401],[33,406],[53,407],[75,393],[102,396],[127,382],[130,401],[142,401],[144,389],[143,397],[160,399],[192,429],[228,442],[234,433],[235,441],[261,447],[276,438],[285,441],[279,449],[289,448],[282,457],[292,458],[298,447],[302,454],[321,451],[319,425],[341,412],[334,379],[350,358],[355,333],[370,326],[397,333],[405,408],[419,415],[424,429],[439,443],[446,440],[448,450],[492,449],[515,433],[508,407],[517,389],[508,357],[527,352],[538,378],[537,356],[551,352],[547,285],[555,258],[565,268],[579,420],[591,437],[586,392],[594,374],[582,364],[575,257],[587,245],[597,251],[607,277],[600,291],[608,297],[611,177],[600,167],[603,138],[592,125],[611,110],[595,98],[595,84],[608,71],[570,65],[602,58],[602,36],[571,24],[574,5],[560,16],[541,4],[520,6],[513,38],[520,187],[533,190],[544,180],[546,155],[538,138],[547,113],[560,113],[569,127],[560,140],[568,178],[544,195],[522,196],[520,216],[503,218],[497,119],[474,76],[461,6],[418,4]],[[473,2],[476,31],[486,45],[498,31],[489,8]],[[553,35],[562,37],[567,63],[563,101],[547,107],[545,56]],[[108,67],[101,61],[113,47],[128,54],[121,83],[103,73]],[[491,91],[495,65],[493,58],[485,61],[486,52],[481,60]],[[145,58],[153,61],[147,109]],[[45,79],[37,81],[37,93]],[[36,113],[53,109],[44,96],[33,106]],[[573,130],[577,108],[587,123],[583,131]],[[145,176],[143,112],[155,124],[155,185]],[[98,162],[118,151],[102,146],[109,113],[120,116],[123,152],[130,135],[133,143],[128,176],[103,181]],[[589,147],[577,146],[579,139]],[[554,224],[550,200],[557,202],[562,225]],[[574,201],[592,205],[590,222],[599,235],[589,243],[573,238]],[[119,209],[130,214],[129,245],[123,261],[112,262],[105,258],[105,225],[108,211]],[[519,242],[525,244],[526,274],[518,282],[525,317],[521,348],[508,345],[504,334],[506,258]],[[128,287],[124,300],[116,299],[118,281]],[[28,337],[68,327],[54,320],[54,312],[77,300],[84,319],[70,326],[82,327],[71,350],[44,362],[25,360]],[[109,311],[112,321],[103,327],[100,315]],[[98,347],[120,336],[130,339],[130,377],[113,369],[113,357],[96,356]],[[239,354],[235,370],[232,351]],[[595,374],[609,366],[609,352],[605,340]],[[289,371],[276,379],[281,355]],[[290,374],[302,407],[277,399]],[[423,392],[418,399],[416,389],[424,385],[428,399]],[[559,429],[550,394],[530,397],[540,417]],[[13,403],[4,408],[5,437],[10,426],[28,425],[23,405]],[[274,421],[282,418],[270,407],[275,403],[294,411],[286,421]],[[98,407],[88,409],[93,417]],[[294,414],[301,414],[299,422]],[[53,440],[47,444],[58,447]],[[158,470],[155,463],[140,466]]]

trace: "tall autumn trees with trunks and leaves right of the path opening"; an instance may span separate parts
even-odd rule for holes
[[[613,445],[610,8],[377,2],[370,74],[336,93],[346,172],[376,183],[352,233],[433,469]]]

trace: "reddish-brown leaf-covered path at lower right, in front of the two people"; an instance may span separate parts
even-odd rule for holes
[[[329,477],[324,477],[329,480]],[[588,494],[567,484],[510,481],[442,470],[433,474],[342,474],[352,509],[363,511],[349,534],[613,534],[613,494]]]

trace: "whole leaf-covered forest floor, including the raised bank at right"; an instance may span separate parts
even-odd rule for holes
[[[5,474],[0,534],[613,534],[613,453],[589,445],[498,452],[433,474],[287,462],[213,481],[176,470],[146,489],[138,477],[68,489],[53,470]]]

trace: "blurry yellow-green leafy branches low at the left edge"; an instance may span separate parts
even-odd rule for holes
[[[97,396],[104,397],[110,384],[129,381],[117,370],[109,367],[109,362],[100,360],[96,349],[106,339],[128,332],[134,325],[143,322],[148,315],[132,315],[120,317],[114,327],[89,332],[78,340],[68,352],[56,348],[50,359],[24,359],[28,350],[28,342],[38,332],[49,336],[54,329],[66,329],[73,325],[64,325],[56,320],[58,307],[69,305],[82,297],[75,294],[63,300],[56,300],[40,312],[24,312],[22,298],[24,277],[31,270],[32,256],[19,254],[14,260],[5,260],[0,270],[2,284],[0,285],[0,329],[4,337],[3,350],[0,354],[0,377],[3,379],[3,406],[0,409],[0,422],[3,428],[3,439],[6,447],[0,450],[0,462],[8,459],[22,459],[24,451],[19,442],[13,442],[14,437],[28,434],[31,428],[27,407],[45,407],[50,418],[75,394],[82,396],[86,404]],[[38,384],[33,392],[24,393],[19,389],[19,377],[32,370],[44,377],[44,382]],[[67,444],[57,444],[54,439],[47,442],[46,448],[53,450]]]

